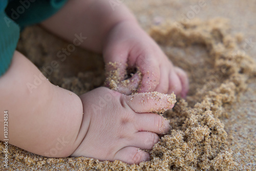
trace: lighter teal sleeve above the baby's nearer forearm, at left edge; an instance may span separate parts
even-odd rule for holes
[[[9,68],[19,38],[19,27],[5,13],[7,0],[0,1],[0,76]]]

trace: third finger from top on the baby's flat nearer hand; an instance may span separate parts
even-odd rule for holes
[[[141,149],[152,149],[155,143],[159,141],[157,134],[152,132],[135,133],[130,144]]]

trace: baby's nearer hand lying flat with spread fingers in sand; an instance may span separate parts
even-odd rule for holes
[[[120,160],[128,164],[150,159],[141,149],[152,149],[158,134],[169,131],[168,121],[150,113],[172,109],[175,95],[140,93],[126,96],[108,88],[98,88],[80,96],[83,119],[71,155],[99,160]]]

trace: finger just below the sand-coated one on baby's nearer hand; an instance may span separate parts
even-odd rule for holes
[[[157,134],[165,134],[170,130],[169,122],[158,114],[137,114],[134,122],[137,131],[150,131]]]

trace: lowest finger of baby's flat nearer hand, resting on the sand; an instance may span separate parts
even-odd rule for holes
[[[127,164],[138,164],[150,160],[150,155],[137,147],[127,146],[116,153],[114,160],[120,160]]]

